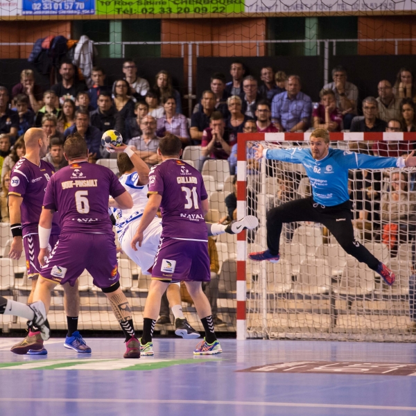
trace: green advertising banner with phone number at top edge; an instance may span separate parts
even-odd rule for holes
[[[96,15],[209,15],[244,12],[243,0],[96,0]]]

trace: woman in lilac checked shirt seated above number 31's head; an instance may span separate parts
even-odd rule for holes
[[[191,144],[188,132],[188,120],[176,112],[176,101],[173,97],[164,98],[164,116],[157,119],[157,135],[163,137],[165,132],[179,137],[183,146]]]

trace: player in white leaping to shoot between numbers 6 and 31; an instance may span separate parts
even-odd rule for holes
[[[148,202],[148,174],[150,169],[147,164],[133,150],[127,146],[114,148],[119,153],[117,166],[123,187],[130,193],[133,200],[131,209],[119,209],[114,200],[110,199],[110,211],[116,220],[116,232],[119,237],[121,249],[134,261],[144,275],[150,275],[155,263],[155,256],[159,248],[160,235],[162,234],[162,219],[155,216],[152,223],[146,228],[144,241],[139,250],[133,250],[131,241],[139,226],[144,208]],[[228,232],[236,234],[243,229],[254,229],[259,221],[254,216],[246,216],[242,220],[229,225],[207,223],[208,235],[216,236]],[[191,327],[187,318],[182,313],[180,297],[180,282],[173,282],[166,292],[169,304],[175,316],[175,333],[183,338],[198,338],[200,334]]]

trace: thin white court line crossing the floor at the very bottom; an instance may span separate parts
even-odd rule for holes
[[[407,406],[372,406],[365,404],[326,404],[326,403],[284,403],[278,401],[223,401],[223,400],[163,400],[163,399],[41,399],[39,397],[0,397],[0,402],[28,401],[47,403],[105,403],[105,404],[209,404],[229,406],[269,406],[269,407],[299,407],[299,408],[338,408],[338,409],[362,409],[362,410],[413,410],[416,407]]]

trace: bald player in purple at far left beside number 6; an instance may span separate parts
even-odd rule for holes
[[[40,250],[37,227],[46,185],[55,169],[50,163],[42,160],[49,144],[49,138],[46,137],[42,129],[29,129],[24,135],[24,142],[26,155],[15,164],[10,174],[9,211],[13,240],[9,257],[18,260],[24,248],[28,278],[32,279],[32,291],[28,297],[30,304],[33,301],[33,292],[40,272],[40,264],[37,261]],[[49,239],[51,245],[55,245],[58,241],[59,233],[58,218],[54,216]],[[76,327],[80,308],[78,286],[71,287],[68,284],[64,286],[64,306],[68,320],[68,334],[65,344],[68,344],[68,340],[71,343],[71,338],[74,338],[73,333],[76,333],[78,334],[75,337],[76,343],[79,345],[78,352],[91,352]],[[34,327],[29,327],[28,336],[14,345],[11,351],[15,354],[47,354],[41,333]]]

